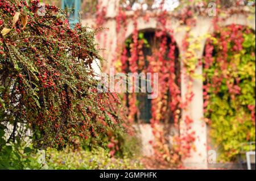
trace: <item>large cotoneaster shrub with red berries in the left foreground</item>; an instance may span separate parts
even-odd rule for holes
[[[1,1],[0,14],[3,145],[30,138],[37,149],[77,148],[122,127],[117,96],[96,90],[93,31],[72,29],[64,11],[38,0]]]

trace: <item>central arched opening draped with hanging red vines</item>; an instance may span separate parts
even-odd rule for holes
[[[175,120],[177,122],[180,113],[177,115],[174,111],[178,109],[179,103],[174,96],[180,97],[180,62],[179,49],[174,38],[164,31],[147,29],[139,31],[137,35],[131,35],[125,44],[124,54],[127,59],[122,62],[125,73],[137,71],[138,74],[159,74],[160,94],[156,99],[148,99],[148,92],[139,92],[135,95],[137,110],[133,115],[134,121],[159,121],[167,124],[173,124]],[[131,94],[127,93],[128,108],[131,106],[130,99]]]

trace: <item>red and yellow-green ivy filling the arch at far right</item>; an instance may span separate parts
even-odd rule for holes
[[[255,141],[255,32],[234,24],[218,30],[205,46],[205,119],[220,159],[232,161]]]

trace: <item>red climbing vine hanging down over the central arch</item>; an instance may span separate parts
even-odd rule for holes
[[[139,32],[137,28],[138,11],[134,12],[131,17],[134,21],[134,31],[131,38],[126,40],[126,47],[121,52],[120,59],[115,60],[117,70],[127,72],[143,72],[143,73],[158,73],[159,75],[159,91],[158,97],[151,100],[151,119],[150,124],[155,139],[150,141],[152,144],[155,157],[159,161],[167,161],[173,166],[180,166],[180,161],[189,156],[195,141],[194,132],[189,131],[189,125],[193,122],[187,115],[185,116],[186,127],[185,131],[170,138],[170,123],[173,127],[179,130],[181,120],[181,109],[186,107],[186,103],[181,100],[180,90],[180,60],[177,53],[177,45],[174,40],[173,30],[166,27],[167,11],[163,10],[156,16],[158,18],[159,30],[154,32],[154,45],[151,45],[151,54],[144,55],[143,49],[149,46],[148,40],[144,37],[143,32]],[[145,15],[147,21],[148,15]],[[120,19],[125,19],[122,9],[119,9],[117,30],[121,29]],[[123,20],[122,22],[125,22]],[[124,32],[126,32],[126,29]],[[158,43],[159,42],[159,43]],[[119,47],[119,46],[118,46]],[[185,47],[184,47],[185,48]],[[150,80],[151,81],[151,80]],[[188,98],[190,101],[192,98]],[[140,110],[138,108],[138,96],[136,93],[131,93],[124,97],[125,104],[128,106],[129,123],[134,123],[134,120],[139,120]],[[169,126],[168,126],[169,125]],[[178,131],[179,132],[179,131]],[[170,142],[172,144],[170,145]]]

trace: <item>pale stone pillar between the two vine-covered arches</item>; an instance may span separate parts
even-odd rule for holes
[[[206,18],[197,19],[196,27],[192,28],[191,43],[197,43],[199,45],[196,50],[196,57],[202,58],[204,52],[204,44],[206,35],[209,32],[210,27],[212,26],[211,20]],[[182,53],[184,57],[184,52]],[[208,168],[208,154],[207,154],[207,124],[204,122],[204,100],[203,100],[203,67],[198,66],[196,68],[197,75],[199,78],[193,79],[192,91],[195,94],[193,96],[192,102],[189,105],[187,110],[183,111],[183,121],[185,116],[188,115],[193,120],[191,124],[191,131],[195,131],[195,151],[192,151],[191,157],[187,158],[184,161],[184,165],[191,167],[193,169],[207,169]],[[184,98],[185,93],[187,92],[187,83],[185,83],[185,75],[181,75],[181,91]],[[201,78],[200,78],[201,77]],[[181,129],[184,126],[184,122],[181,123]]]

